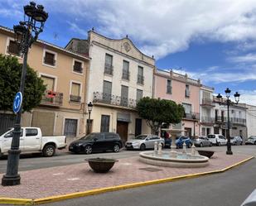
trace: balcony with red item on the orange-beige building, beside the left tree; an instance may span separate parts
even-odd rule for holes
[[[63,103],[63,93],[57,93],[47,90],[41,97],[41,105],[47,105],[51,107],[60,107]]]

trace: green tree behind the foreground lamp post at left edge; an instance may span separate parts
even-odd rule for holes
[[[19,91],[22,76],[22,64],[16,57],[0,55],[0,110],[12,111],[15,94]],[[36,75],[36,71],[27,65],[27,76],[23,94],[22,112],[30,112],[41,102],[46,86]]]

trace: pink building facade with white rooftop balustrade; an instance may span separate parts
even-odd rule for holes
[[[187,74],[177,74],[172,70],[155,70],[154,98],[172,100],[181,103],[185,108],[181,123],[168,127],[171,135],[200,135],[200,86],[200,79],[191,79]]]

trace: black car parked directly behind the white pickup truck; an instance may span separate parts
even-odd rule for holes
[[[72,141],[69,151],[90,154],[94,151],[120,151],[123,147],[121,138],[114,132],[93,132],[89,135]]]

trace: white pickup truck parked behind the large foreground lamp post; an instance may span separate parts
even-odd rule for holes
[[[7,155],[12,144],[13,128],[0,136],[0,156]],[[42,137],[38,127],[22,127],[20,136],[20,150],[22,153],[42,152],[44,156],[53,156],[56,149],[64,149],[66,146],[65,136]]]

